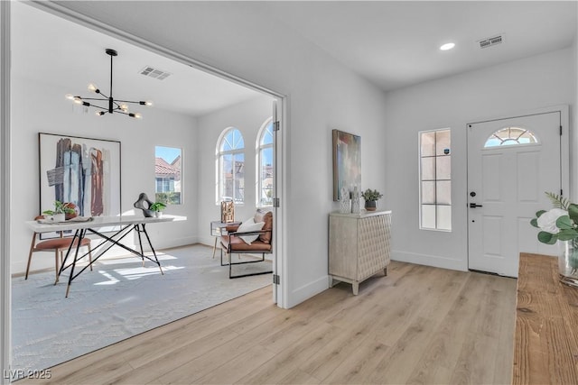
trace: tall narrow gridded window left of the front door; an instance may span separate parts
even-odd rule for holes
[[[452,230],[452,155],[449,129],[419,133],[420,228]]]

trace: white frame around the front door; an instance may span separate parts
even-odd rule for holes
[[[561,180],[561,184],[562,184],[562,190],[564,193],[564,197],[569,197],[572,198],[573,194],[575,194],[577,191],[571,190],[571,180],[570,180],[570,176],[572,175],[572,173],[576,170],[573,170],[573,166],[572,163],[570,162],[570,144],[571,141],[575,142],[576,139],[578,138],[574,138],[570,136],[570,121],[569,121],[569,107],[568,105],[553,105],[550,107],[543,107],[543,108],[536,108],[536,109],[532,109],[529,111],[520,111],[516,114],[509,114],[509,115],[500,115],[497,117],[492,117],[492,118],[488,118],[488,119],[480,119],[480,120],[475,120],[472,121],[470,123],[467,123],[465,125],[465,129],[466,129],[466,134],[468,133],[468,126],[470,124],[480,124],[480,123],[487,123],[487,122],[492,122],[492,121],[497,121],[497,120],[504,120],[504,119],[511,119],[511,118],[516,118],[516,117],[521,117],[521,116],[528,116],[528,115],[542,115],[542,114],[551,114],[551,113],[559,113],[560,114],[560,126],[562,129],[562,136],[561,136],[561,142],[560,142],[560,167],[562,168],[562,170],[560,170],[560,180]],[[578,136],[578,135],[577,135]],[[466,139],[466,141],[469,141],[469,138]],[[466,149],[468,148],[468,142],[466,142]],[[576,148],[576,146],[573,146],[573,148]],[[468,154],[467,154],[467,150],[466,150],[466,160],[468,160]],[[470,165],[467,165],[467,173],[466,173],[466,180],[470,180],[468,177],[468,174],[470,172]],[[572,180],[572,183],[576,183],[577,180]],[[572,184],[572,186],[573,186]],[[466,194],[471,190],[470,186],[467,186],[466,188]],[[466,202],[469,202],[470,199],[467,198]],[[544,207],[544,209],[548,209],[548,207]],[[466,211],[466,222],[469,224],[469,215],[470,215],[470,210]],[[468,266],[470,265],[470,226],[468,226]]]

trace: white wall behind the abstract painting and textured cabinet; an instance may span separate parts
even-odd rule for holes
[[[235,2],[64,2],[146,41],[287,96],[284,305],[328,288],[331,130],[361,135],[362,187],[386,187],[383,93],[281,23]],[[168,22],[170,21],[170,22]],[[202,38],[201,38],[202,37]]]

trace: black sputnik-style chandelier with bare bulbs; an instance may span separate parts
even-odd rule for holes
[[[143,117],[143,115],[141,115],[140,113],[131,113],[128,111],[128,105],[126,105],[127,103],[132,103],[135,105],[148,105],[151,106],[153,105],[153,102],[151,101],[130,101],[130,100],[118,100],[118,99],[114,99],[112,96],[112,60],[115,56],[118,55],[116,50],[111,50],[111,49],[107,49],[106,50],[107,55],[110,56],[110,92],[108,93],[108,96],[106,96],[105,94],[102,93],[102,91],[100,91],[100,89],[98,89],[98,87],[92,83],[89,84],[89,91],[90,92],[94,92],[95,94],[98,94],[100,97],[83,97],[83,96],[74,96],[72,94],[67,94],[66,98],[72,100],[73,103],[77,104],[77,105],[84,105],[87,107],[94,107],[97,108],[98,111],[96,112],[96,114],[98,116],[102,116],[105,114],[124,114],[124,115],[128,115],[130,117],[134,117],[136,119],[141,119]],[[92,102],[88,102],[88,100],[92,101]],[[107,102],[107,106],[102,106],[102,105],[96,105],[95,103],[105,103]]]

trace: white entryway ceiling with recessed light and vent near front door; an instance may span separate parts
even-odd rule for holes
[[[575,1],[270,2],[270,14],[384,90],[570,46]],[[477,41],[503,33],[505,42]],[[456,44],[442,51],[446,42]]]

